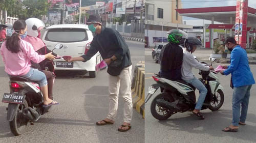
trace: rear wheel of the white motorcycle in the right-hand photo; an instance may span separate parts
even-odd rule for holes
[[[164,108],[164,107],[161,107],[159,106],[156,101],[158,99],[161,99],[161,100],[165,100],[165,101],[168,101],[168,102],[174,102],[174,99],[172,96],[170,96],[169,94],[167,93],[160,93],[159,95],[157,95],[152,103],[151,103],[151,114],[154,118],[156,118],[157,120],[166,120],[168,119],[170,116],[173,115],[173,113],[175,113],[174,111],[172,110],[169,110],[167,108]]]

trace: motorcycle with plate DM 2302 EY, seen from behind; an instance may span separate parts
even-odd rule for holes
[[[54,49],[63,45],[56,44]],[[8,103],[7,121],[14,135],[22,134],[28,123],[34,125],[51,105],[44,105],[44,98],[37,81],[25,77],[10,76],[10,93],[5,93],[2,102]]]

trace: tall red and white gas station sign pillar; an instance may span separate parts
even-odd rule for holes
[[[237,0],[235,39],[238,44],[246,48],[248,0]]]

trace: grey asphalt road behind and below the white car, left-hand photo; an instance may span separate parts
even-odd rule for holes
[[[144,61],[144,43],[127,41],[133,67]],[[13,136],[6,121],[7,103],[0,102],[0,142],[144,142],[144,120],[134,109],[132,129],[118,132],[122,124],[123,100],[119,98],[118,115],[113,125],[96,126],[108,112],[108,73],[99,71],[96,78],[74,77],[59,73],[54,83],[54,99],[60,104],[51,108],[38,122],[29,125],[23,135]],[[0,93],[9,92],[9,78],[0,60]],[[0,96],[2,98],[2,96]]]

